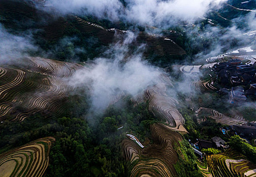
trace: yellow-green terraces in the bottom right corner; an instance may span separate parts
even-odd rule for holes
[[[207,155],[206,160],[213,176],[256,176],[256,166],[232,150],[226,150],[222,154]]]

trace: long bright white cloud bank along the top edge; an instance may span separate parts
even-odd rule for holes
[[[46,7],[54,7],[61,14],[93,15],[100,19],[139,25],[163,27],[177,21],[194,21],[227,0],[158,1],[158,0],[48,0]]]

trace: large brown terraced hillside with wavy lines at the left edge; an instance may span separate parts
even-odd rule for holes
[[[79,64],[27,57],[0,67],[0,120],[22,121],[30,114],[59,114],[74,88],[65,81]]]

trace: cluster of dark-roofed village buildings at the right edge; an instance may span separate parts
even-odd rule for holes
[[[247,96],[256,97],[256,65],[243,64],[238,59],[229,60],[214,65],[217,81],[221,85],[231,87],[221,89],[221,93],[229,94],[230,103],[241,103]]]

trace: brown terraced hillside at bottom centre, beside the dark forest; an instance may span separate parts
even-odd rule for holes
[[[138,160],[131,176],[177,176],[174,164],[178,161],[178,155],[174,145],[182,140],[180,134],[163,124],[153,124],[150,129],[152,145],[141,148],[131,140],[122,142],[126,160]]]

